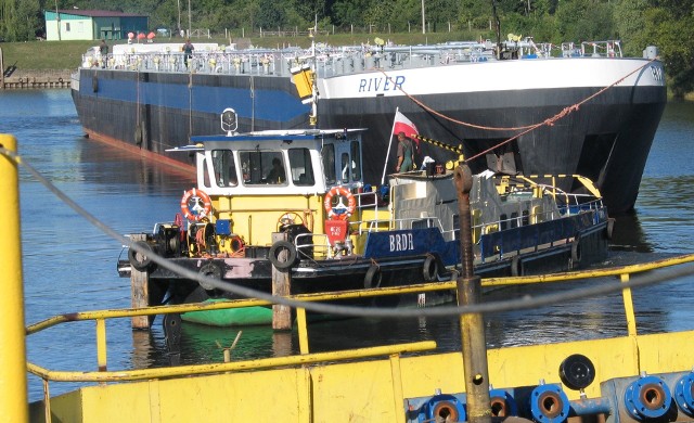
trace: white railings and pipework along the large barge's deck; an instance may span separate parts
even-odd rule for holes
[[[164,47],[163,47],[164,49]],[[619,41],[574,43],[524,44],[520,57],[614,57],[621,56]],[[558,52],[557,52],[558,51]],[[526,54],[527,53],[527,54]],[[352,74],[368,69],[400,69],[412,67],[446,66],[494,60],[492,46],[486,42],[451,42],[433,46],[344,46],[317,49],[255,49],[194,51],[185,64],[181,51],[83,54],[82,67],[104,67],[115,70],[180,72],[227,75],[291,75],[290,69],[305,63],[314,63],[319,77]]]

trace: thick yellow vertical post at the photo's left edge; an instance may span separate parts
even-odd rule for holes
[[[0,420],[29,419],[26,392],[22,239],[20,236],[20,179],[17,163],[4,150],[16,153],[14,137],[0,133],[0,192],[5,207],[0,231]]]

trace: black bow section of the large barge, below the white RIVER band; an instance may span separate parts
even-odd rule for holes
[[[461,121],[489,127],[522,127],[542,121],[566,105],[599,89],[536,90],[515,93],[470,93],[432,95],[420,100],[438,113]],[[582,105],[553,126],[542,126],[520,136],[497,152],[513,151],[516,168],[525,175],[581,175],[596,182],[612,214],[633,208],[651,144],[666,104],[659,87],[614,88],[605,98]],[[532,105],[530,99],[540,105]],[[393,98],[339,100],[319,105],[321,124],[339,128],[350,124],[370,128],[365,134],[374,145],[364,163],[369,181],[381,180],[387,151],[393,110],[416,123],[420,133],[447,144],[463,146],[465,157],[474,157],[517,132],[465,128]],[[613,145],[614,142],[614,145]],[[448,151],[421,142],[417,161],[425,156],[445,162],[457,158]],[[395,171],[395,145],[387,172]],[[485,156],[468,162],[473,172],[487,169]],[[564,187],[570,190],[570,187]]]

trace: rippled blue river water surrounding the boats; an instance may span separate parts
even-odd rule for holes
[[[60,190],[119,233],[149,232],[171,221],[192,178],[167,172],[82,137],[69,90],[0,91],[0,133],[17,138],[20,154]],[[604,265],[694,253],[694,103],[671,102],[641,184],[637,213],[620,216]],[[74,311],[127,308],[130,281],[118,278],[121,245],[91,226],[21,167],[22,247],[27,324]],[[640,333],[694,329],[694,278],[634,291]],[[588,283],[600,283],[588,282]],[[553,291],[569,290],[578,283]],[[506,289],[486,299],[531,294]],[[538,290],[537,287],[534,290]],[[544,291],[544,290],[543,290]],[[490,347],[624,335],[618,295],[486,317]],[[221,361],[239,330],[183,324],[183,363]],[[52,370],[97,370],[92,322],[68,323],[27,338],[28,359]],[[296,330],[243,329],[234,360],[298,351]],[[312,323],[312,351],[435,339],[439,350],[460,348],[457,318],[343,319]],[[160,318],[151,331],[132,331],[128,319],[107,324],[108,369],[168,362]],[[29,399],[42,396],[29,375]],[[52,383],[51,394],[76,384]]]

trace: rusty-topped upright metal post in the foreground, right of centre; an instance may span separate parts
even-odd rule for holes
[[[470,191],[473,175],[467,165],[460,165],[453,175],[458,190],[460,221],[460,246],[462,272],[455,281],[458,303],[473,305],[480,302],[481,280],[473,271],[472,213]],[[463,364],[465,370],[465,393],[467,394],[467,419],[471,423],[490,423],[491,403],[489,397],[489,369],[487,366],[487,341],[485,319],[480,313],[460,317]]]

